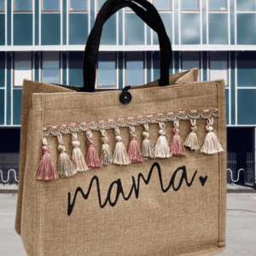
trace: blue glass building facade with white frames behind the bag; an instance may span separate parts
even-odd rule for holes
[[[150,0],[172,42],[170,74],[224,79],[228,167],[255,183],[255,0]],[[23,79],[83,86],[84,45],[104,0],[0,0],[0,169],[18,172]],[[129,8],[104,25],[96,88],[160,77],[157,34]],[[242,146],[241,146],[242,145]],[[18,173],[17,173],[18,174]]]

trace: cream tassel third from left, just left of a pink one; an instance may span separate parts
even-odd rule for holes
[[[72,145],[73,145],[73,160],[77,166],[77,172],[89,171],[88,166],[85,163],[84,155],[79,148],[80,142],[78,140],[78,134],[76,132],[72,133]]]

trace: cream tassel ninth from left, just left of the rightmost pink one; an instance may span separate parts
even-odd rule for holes
[[[159,123],[160,131],[158,131],[160,137],[154,144],[154,157],[155,158],[169,158],[172,157],[168,142],[166,140],[166,125],[162,122]]]

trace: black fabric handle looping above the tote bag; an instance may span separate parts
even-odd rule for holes
[[[83,76],[84,86],[79,91],[93,92],[96,83],[96,61],[100,40],[102,36],[102,28],[108,18],[116,13],[119,9],[129,6],[134,12],[144,20],[155,32],[158,33],[160,42],[160,81],[159,85],[169,85],[169,67],[172,60],[172,44],[166,34],[166,28],[160,18],[158,11],[154,5],[146,0],[132,0],[143,6],[124,0],[107,0],[102,9],[96,16],[96,22],[93,26],[90,36],[84,50]]]

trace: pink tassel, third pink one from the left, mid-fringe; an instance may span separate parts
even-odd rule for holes
[[[137,136],[135,134],[135,127],[129,126],[131,133],[131,142],[128,148],[128,157],[131,160],[131,163],[142,163],[143,156],[141,154],[141,149],[137,143]]]

